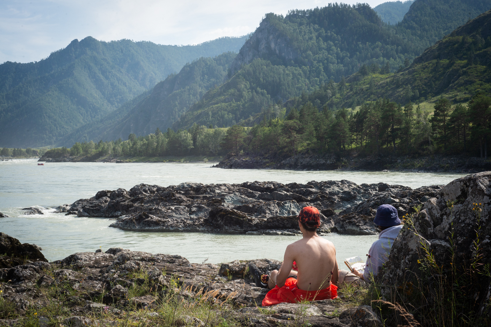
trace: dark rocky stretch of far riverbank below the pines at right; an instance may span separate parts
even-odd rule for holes
[[[424,157],[340,157],[336,154],[299,154],[284,160],[264,157],[228,157],[216,168],[225,169],[287,169],[394,172],[459,172],[478,173],[491,170],[491,159],[468,156],[432,155]]]

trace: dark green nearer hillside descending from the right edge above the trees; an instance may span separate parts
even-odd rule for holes
[[[462,102],[478,92],[490,93],[491,10],[436,42],[399,73],[357,73],[347,81],[353,86],[344,96],[345,106],[360,95],[362,100],[387,98],[404,104],[440,95]]]

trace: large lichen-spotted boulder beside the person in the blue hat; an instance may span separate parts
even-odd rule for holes
[[[491,264],[490,217],[491,172],[468,175],[441,188],[406,222],[407,227],[394,241],[386,268],[377,277],[383,296],[393,299],[392,291],[398,287],[406,290],[398,292],[399,297],[410,295],[415,291],[412,285],[420,285],[430,289],[425,292],[425,303],[431,303],[437,296],[432,290],[440,287],[435,284],[435,275],[450,285],[455,274],[466,276],[472,282],[460,286],[459,301],[478,316],[488,315],[490,319],[486,303],[490,301],[491,283],[482,270]],[[427,253],[432,253],[434,263],[428,261]]]

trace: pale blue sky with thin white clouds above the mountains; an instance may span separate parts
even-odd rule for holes
[[[387,0],[366,2],[372,7]],[[266,13],[329,0],[0,0],[0,63],[39,61],[72,40],[199,44],[253,32]]]

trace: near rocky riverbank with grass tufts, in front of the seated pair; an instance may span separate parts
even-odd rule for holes
[[[74,253],[48,263],[39,250],[0,234],[0,247],[34,249],[1,257],[2,326],[358,326],[380,323],[367,284],[339,297],[261,307],[267,289],[248,264],[270,273],[276,260],[191,264],[180,255],[121,248]],[[22,261],[22,262],[21,262]],[[365,305],[363,305],[365,304]],[[368,304],[368,306],[367,306]],[[354,325],[355,324],[355,325]],[[368,325],[362,325],[368,326]]]

